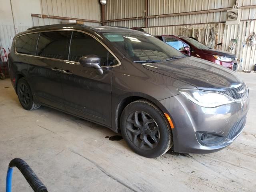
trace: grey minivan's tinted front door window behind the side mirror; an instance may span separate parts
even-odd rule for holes
[[[100,57],[101,66],[118,64],[116,58],[92,36],[80,32],[73,32],[70,44],[70,60],[79,62],[80,57],[92,54]]]

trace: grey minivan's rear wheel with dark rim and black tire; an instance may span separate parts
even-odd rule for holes
[[[20,78],[17,84],[17,94],[22,107],[26,110],[34,110],[40,108],[40,104],[36,104],[33,99],[32,90],[25,80]]]

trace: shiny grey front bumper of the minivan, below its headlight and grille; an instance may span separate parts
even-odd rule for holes
[[[230,145],[242,133],[249,110],[249,97],[243,102],[215,108],[198,106],[181,94],[160,102],[174,122],[174,151],[181,153],[211,153]],[[238,122],[243,118],[238,127]],[[206,146],[198,141],[196,132],[215,133],[224,139],[218,145]]]

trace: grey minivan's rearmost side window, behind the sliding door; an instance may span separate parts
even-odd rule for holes
[[[22,54],[36,55],[36,44],[39,33],[19,36],[16,39],[16,51]]]

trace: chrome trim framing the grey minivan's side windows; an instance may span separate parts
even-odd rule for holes
[[[80,64],[79,62],[75,62],[75,61],[70,61],[70,60],[62,60],[62,59],[55,59],[55,58],[50,58],[50,57],[42,57],[42,56],[36,56],[36,55],[29,55],[29,54],[23,54],[23,53],[18,53],[16,50],[16,40],[18,37],[23,36],[23,35],[28,35],[28,34],[33,34],[33,33],[42,33],[42,32],[52,32],[52,31],[77,31],[77,32],[81,32],[84,34],[87,34],[89,36],[91,36],[92,38],[94,38],[95,40],[97,40],[100,44],[102,44],[113,56],[114,58],[116,58],[116,60],[118,61],[118,64],[113,65],[113,66],[101,66],[101,68],[111,68],[111,67],[116,67],[116,66],[120,66],[121,62],[120,60],[116,57],[116,55],[110,50],[110,48],[108,48],[108,46],[106,46],[101,40],[99,40],[96,36],[86,32],[86,31],[82,31],[82,30],[76,30],[76,29],[54,29],[54,30],[42,30],[42,31],[37,31],[37,32],[29,32],[29,33],[25,33],[25,34],[21,34],[16,36],[15,38],[15,42],[14,42],[14,50],[15,50],[15,54],[16,55],[23,55],[23,56],[30,56],[30,57],[37,57],[37,58],[44,58],[44,59],[50,59],[50,60],[56,60],[56,61],[62,61],[62,62],[68,62],[68,63],[72,63],[72,64]],[[39,36],[40,37],[40,36]],[[39,41],[39,37],[38,37],[38,41]]]

